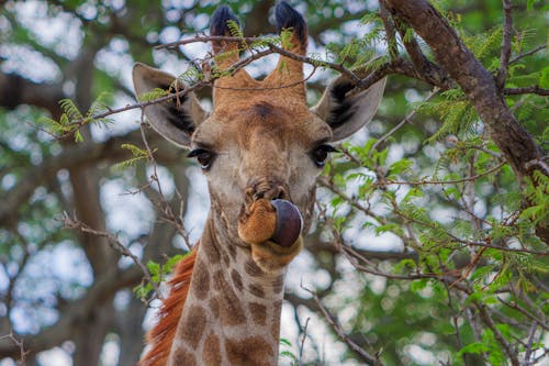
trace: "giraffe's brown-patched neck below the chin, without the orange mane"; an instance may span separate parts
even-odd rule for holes
[[[210,217],[168,365],[277,365],[284,270],[262,271]]]

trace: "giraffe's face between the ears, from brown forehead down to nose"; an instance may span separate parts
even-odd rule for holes
[[[236,224],[250,214],[257,200],[293,202],[304,228],[309,226],[315,180],[332,140],[329,126],[304,104],[288,108],[267,100],[264,96],[251,106],[235,103],[234,109],[214,112],[191,138],[191,149],[198,152],[208,177],[212,208],[223,218],[232,241],[243,245],[258,244],[242,237]],[[256,225],[266,232],[251,236],[271,236],[269,223]]]

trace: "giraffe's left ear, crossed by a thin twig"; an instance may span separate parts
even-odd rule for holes
[[[135,64],[132,73],[137,98],[155,89],[175,87],[176,77],[159,69]],[[179,82],[179,81],[178,81]],[[179,84],[180,88],[183,88]],[[193,92],[188,92],[166,102],[145,107],[145,115],[150,125],[165,138],[182,147],[189,147],[197,126],[208,118]]]

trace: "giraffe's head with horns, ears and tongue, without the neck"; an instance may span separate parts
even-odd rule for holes
[[[277,27],[291,34],[283,47],[304,56],[305,21],[285,2],[276,8]],[[211,19],[211,35],[231,35],[238,24],[227,7]],[[213,74],[239,60],[239,44],[212,42]],[[176,78],[136,64],[136,93],[173,88]],[[179,90],[184,88],[178,85]],[[301,234],[311,224],[315,181],[329,145],[345,138],[374,115],[384,80],[347,96],[351,82],[339,77],[321,101],[306,104],[303,64],[281,56],[274,69],[256,80],[239,69],[213,85],[213,110],[203,110],[192,92],[179,100],[145,108],[150,125],[175,144],[189,148],[208,178],[211,213],[217,235],[227,245],[249,249],[264,270],[283,268],[302,247]]]

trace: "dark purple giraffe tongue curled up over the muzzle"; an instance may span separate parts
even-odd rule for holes
[[[277,210],[277,229],[271,241],[283,247],[292,246],[303,228],[301,212],[295,204],[287,200],[272,200],[271,204]]]

